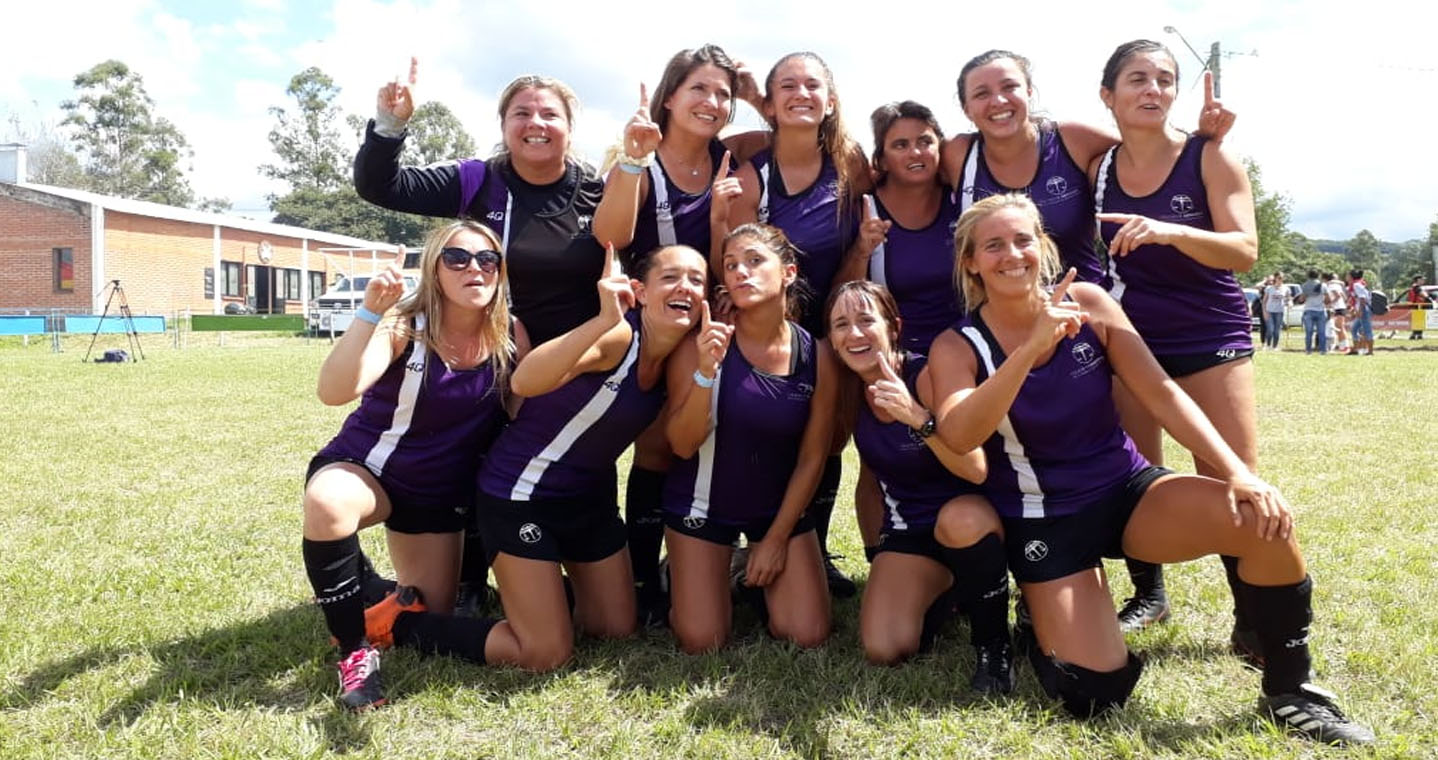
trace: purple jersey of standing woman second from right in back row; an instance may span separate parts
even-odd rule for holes
[[[984,158],[984,135],[974,134],[969,154],[963,159],[963,182],[959,187],[959,211],[974,201],[1001,193],[1022,193],[1034,200],[1044,218],[1044,230],[1058,246],[1064,269],[1078,270],[1076,279],[1109,287],[1109,274],[1094,250],[1093,198],[1089,197],[1089,175],[1074,162],[1051,121],[1038,122],[1038,168],[1024,187],[1007,187],[989,172]]]

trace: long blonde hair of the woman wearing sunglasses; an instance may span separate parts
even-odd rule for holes
[[[406,338],[418,340],[431,351],[440,345],[440,329],[444,322],[444,293],[439,279],[440,251],[462,231],[483,236],[496,251],[500,251],[495,295],[486,307],[489,319],[480,322],[479,336],[489,348],[489,359],[495,365],[495,385],[505,388],[508,384],[503,378],[515,358],[515,336],[509,319],[509,276],[499,236],[489,227],[477,221],[459,220],[436,228],[424,238],[424,253],[420,254],[420,286],[395,307],[400,318],[398,329],[404,330]],[[416,330],[414,318],[420,315],[424,316],[424,328]]]

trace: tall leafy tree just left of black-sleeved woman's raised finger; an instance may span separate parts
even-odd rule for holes
[[[339,88],[325,72],[311,66],[296,73],[285,91],[295,99],[296,112],[270,108],[275,128],[269,141],[279,157],[278,164],[265,164],[260,172],[282,180],[292,190],[335,191],[349,184],[351,151],[345,149],[339,131],[345,124],[335,99]],[[275,197],[270,197],[273,207]]]

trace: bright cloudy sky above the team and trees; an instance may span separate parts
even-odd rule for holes
[[[487,152],[499,138],[496,96],[522,73],[568,82],[582,111],[580,151],[598,161],[683,47],[723,46],[761,75],[785,53],[814,50],[834,72],[846,124],[871,145],[869,112],[889,101],[929,105],[951,134],[972,129],[955,76],[991,47],[1034,63],[1037,106],[1057,119],[1112,125],[1099,76],[1122,42],[1166,43],[1181,68],[1172,121],[1192,128],[1202,62],[1224,50],[1221,96],[1238,113],[1227,139],[1255,159],[1270,191],[1293,201],[1290,227],[1309,237],[1426,237],[1438,220],[1438,46],[1422,4],[1406,0],[1150,0],[1143,3],[597,3],[594,0],[106,0],[26,3],[23,27],[0,45],[0,118],[58,124],[75,75],[119,59],[144,76],[161,116],[194,148],[191,185],[267,218],[283,187],[273,161],[272,106],[290,106],[289,79],[318,66],[342,88],[348,113],[374,113],[374,93],[420,60],[418,99],[453,109]],[[9,24],[7,24],[9,26]],[[736,124],[759,125],[748,106]],[[3,126],[0,126],[3,129]],[[1382,134],[1378,134],[1382,132]],[[0,132],[3,136],[3,132]]]

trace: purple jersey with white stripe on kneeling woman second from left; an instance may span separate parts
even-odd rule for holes
[[[626,320],[634,333],[618,366],[525,399],[485,457],[480,490],[510,501],[613,494],[614,460],[664,405],[663,382],[638,386],[638,312]]]

